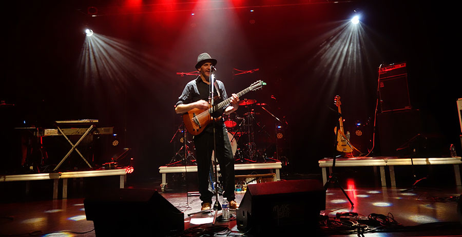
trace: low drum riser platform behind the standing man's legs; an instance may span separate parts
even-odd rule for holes
[[[235,170],[255,170],[255,169],[269,169],[270,173],[275,173],[276,176],[274,181],[281,180],[279,169],[282,168],[282,163],[278,162],[266,162],[266,163],[248,163],[248,164],[234,164]],[[220,171],[220,166],[217,166]],[[159,173],[162,174],[162,191],[165,191],[167,187],[167,174],[171,173],[188,173],[197,172],[197,165],[186,165],[186,166],[161,166],[159,167]]]

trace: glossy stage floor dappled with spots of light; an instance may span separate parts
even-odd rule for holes
[[[146,187],[146,185],[143,185],[143,187]],[[402,226],[416,226],[436,222],[459,222],[456,213],[457,203],[450,199],[443,199],[459,196],[462,192],[460,187],[434,191],[418,189],[410,192],[400,192],[402,189],[387,187],[358,189],[351,185],[345,187],[345,189],[347,189],[349,197],[355,204],[354,208],[351,207],[340,189],[330,188],[326,192],[326,210],[324,214],[331,219],[335,217],[336,212],[352,211],[365,216],[370,213],[387,215],[390,212]],[[187,197],[185,192],[161,193],[161,195],[184,212],[185,228],[197,226],[192,223],[210,221],[213,218],[213,213],[202,213],[188,217],[188,213],[200,210],[201,201],[198,196]],[[242,197],[243,193],[238,194],[237,201],[240,202]],[[86,232],[93,229],[93,222],[85,219],[82,198],[1,203],[0,210],[0,235],[2,236],[7,234],[27,234],[33,231],[42,231],[42,234],[46,234],[53,231]],[[219,211],[220,213],[221,211]],[[236,229],[236,221],[217,223],[228,226],[234,232],[232,235],[242,234]],[[458,229],[441,227],[421,229],[421,231],[410,232],[365,233],[364,236],[461,236],[460,234],[462,233],[462,225],[459,225]],[[90,231],[84,234],[67,233],[42,236],[95,236],[95,233]],[[358,235],[341,234],[331,236]]]

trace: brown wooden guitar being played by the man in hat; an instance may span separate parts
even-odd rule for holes
[[[263,85],[266,85],[266,82],[263,82],[262,80],[258,80],[252,83],[250,87],[240,91],[236,95],[241,97],[249,91],[256,91],[258,89],[261,89]],[[232,97],[226,100],[223,100],[222,102],[218,103],[215,106],[209,105],[209,109],[207,110],[192,109],[188,111],[187,113],[183,114],[183,121],[184,121],[184,126],[186,127],[186,130],[192,135],[201,134],[202,131],[204,131],[205,127],[211,121],[213,121],[211,114],[213,114],[217,110],[220,110],[226,104],[229,104],[229,102],[231,101],[231,98]]]

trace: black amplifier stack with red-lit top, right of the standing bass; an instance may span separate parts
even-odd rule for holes
[[[382,113],[412,109],[406,62],[390,64],[379,69],[379,95]]]

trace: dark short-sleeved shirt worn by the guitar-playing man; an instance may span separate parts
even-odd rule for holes
[[[218,84],[218,90],[220,94],[220,98],[215,99],[214,103],[218,104],[223,100],[226,100],[228,98],[228,95],[226,94],[226,90],[224,88],[223,82],[220,80],[216,80]],[[214,92],[215,97],[218,96],[217,91]],[[186,84],[186,87],[184,87],[183,93],[181,94],[180,97],[178,97],[178,102],[176,105],[179,104],[189,104],[192,102],[196,102],[198,100],[205,100],[208,101],[208,95],[209,95],[209,85],[202,81],[202,78],[198,76],[196,79],[189,81]],[[229,104],[223,106],[222,109],[218,110],[213,114],[214,117],[219,117],[223,114],[224,110],[226,107],[229,106]],[[223,118],[219,120],[219,123],[223,124]],[[210,123],[211,124],[211,123]],[[211,127],[211,126],[208,126]],[[207,130],[209,128],[207,127]]]

